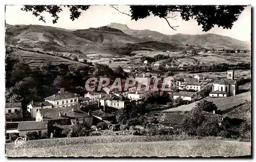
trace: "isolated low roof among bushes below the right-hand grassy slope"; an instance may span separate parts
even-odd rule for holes
[[[164,114],[159,120],[162,124],[181,124],[185,117],[184,114]]]

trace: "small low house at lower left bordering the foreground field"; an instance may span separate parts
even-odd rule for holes
[[[46,121],[23,121],[18,123],[19,136],[24,137],[27,132],[36,131],[38,136],[48,134]]]

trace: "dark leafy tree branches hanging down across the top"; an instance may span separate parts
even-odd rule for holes
[[[53,23],[57,23],[59,18],[59,13],[62,8],[68,8],[70,11],[70,19],[73,21],[78,19],[81,15],[81,11],[86,11],[89,9],[88,5],[24,5],[23,11],[32,12],[33,15],[39,17],[39,20],[46,22],[45,17],[41,15],[42,12],[49,13],[52,17]],[[180,13],[182,20],[188,21],[190,19],[195,19],[198,25],[202,25],[204,32],[209,31],[215,25],[223,29],[231,29],[233,23],[238,20],[239,15],[244,10],[245,6],[239,5],[158,5],[158,6],[130,6],[130,13],[124,13],[118,10],[118,7],[111,6],[118,12],[130,16],[132,20],[139,20],[146,18],[148,16],[154,15],[159,18],[166,20],[167,24],[173,30],[176,30],[178,26],[170,25],[169,19],[176,19],[176,13]],[[174,13],[172,16],[168,16],[169,13]]]

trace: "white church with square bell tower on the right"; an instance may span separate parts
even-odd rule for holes
[[[237,94],[237,80],[234,80],[234,71],[227,71],[227,79],[214,80],[210,97],[228,97]]]

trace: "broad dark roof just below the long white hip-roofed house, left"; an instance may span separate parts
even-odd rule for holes
[[[39,112],[43,116],[43,120],[56,120],[56,119],[68,119],[68,118],[86,118],[90,117],[87,113],[79,110],[80,104],[74,104],[68,107],[54,107],[54,109],[40,109]],[[74,112],[72,112],[72,108]],[[59,116],[61,113],[61,117]],[[67,117],[65,117],[65,113]]]

